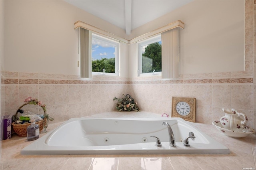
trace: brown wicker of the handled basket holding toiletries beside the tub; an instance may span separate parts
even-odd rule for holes
[[[18,115],[18,112],[20,112],[20,109],[25,106],[28,105],[28,103],[25,103],[24,105],[22,105],[21,107],[19,107],[19,109],[16,111],[16,116]],[[46,125],[47,122],[47,118],[45,117],[42,121],[38,121],[36,122],[36,124],[39,125],[39,129],[40,132],[44,129],[44,125]],[[18,134],[18,136],[22,136],[22,137],[26,137],[27,136],[27,127],[30,125],[31,123],[26,123],[26,124],[15,124],[12,123],[12,130],[14,131],[14,133]]]

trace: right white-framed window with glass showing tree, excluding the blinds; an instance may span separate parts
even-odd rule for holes
[[[138,43],[139,75],[161,75],[162,41],[161,35]]]

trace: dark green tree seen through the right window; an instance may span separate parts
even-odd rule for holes
[[[142,73],[162,71],[162,45],[152,43],[145,48],[142,54]]]

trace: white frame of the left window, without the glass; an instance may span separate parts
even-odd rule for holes
[[[95,32],[92,32],[92,40],[97,40],[100,42],[108,43],[111,46],[115,47],[115,73],[103,73],[103,72],[94,72],[92,75],[109,75],[109,76],[120,76],[119,69],[119,60],[120,60],[120,41],[113,38],[109,38],[103,35],[98,35]]]

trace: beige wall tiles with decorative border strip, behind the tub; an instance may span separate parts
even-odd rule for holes
[[[16,113],[28,96],[47,106],[54,118],[67,121],[105,111],[115,111],[114,97],[130,94],[141,110],[171,114],[172,96],[196,98],[196,122],[211,124],[224,115],[222,108],[234,108],[247,115],[255,128],[256,85],[252,77],[231,77],[231,73],[182,75],[180,79],[155,77],[121,78],[78,75],[5,72],[4,115]],[[40,108],[36,112],[41,112]]]

